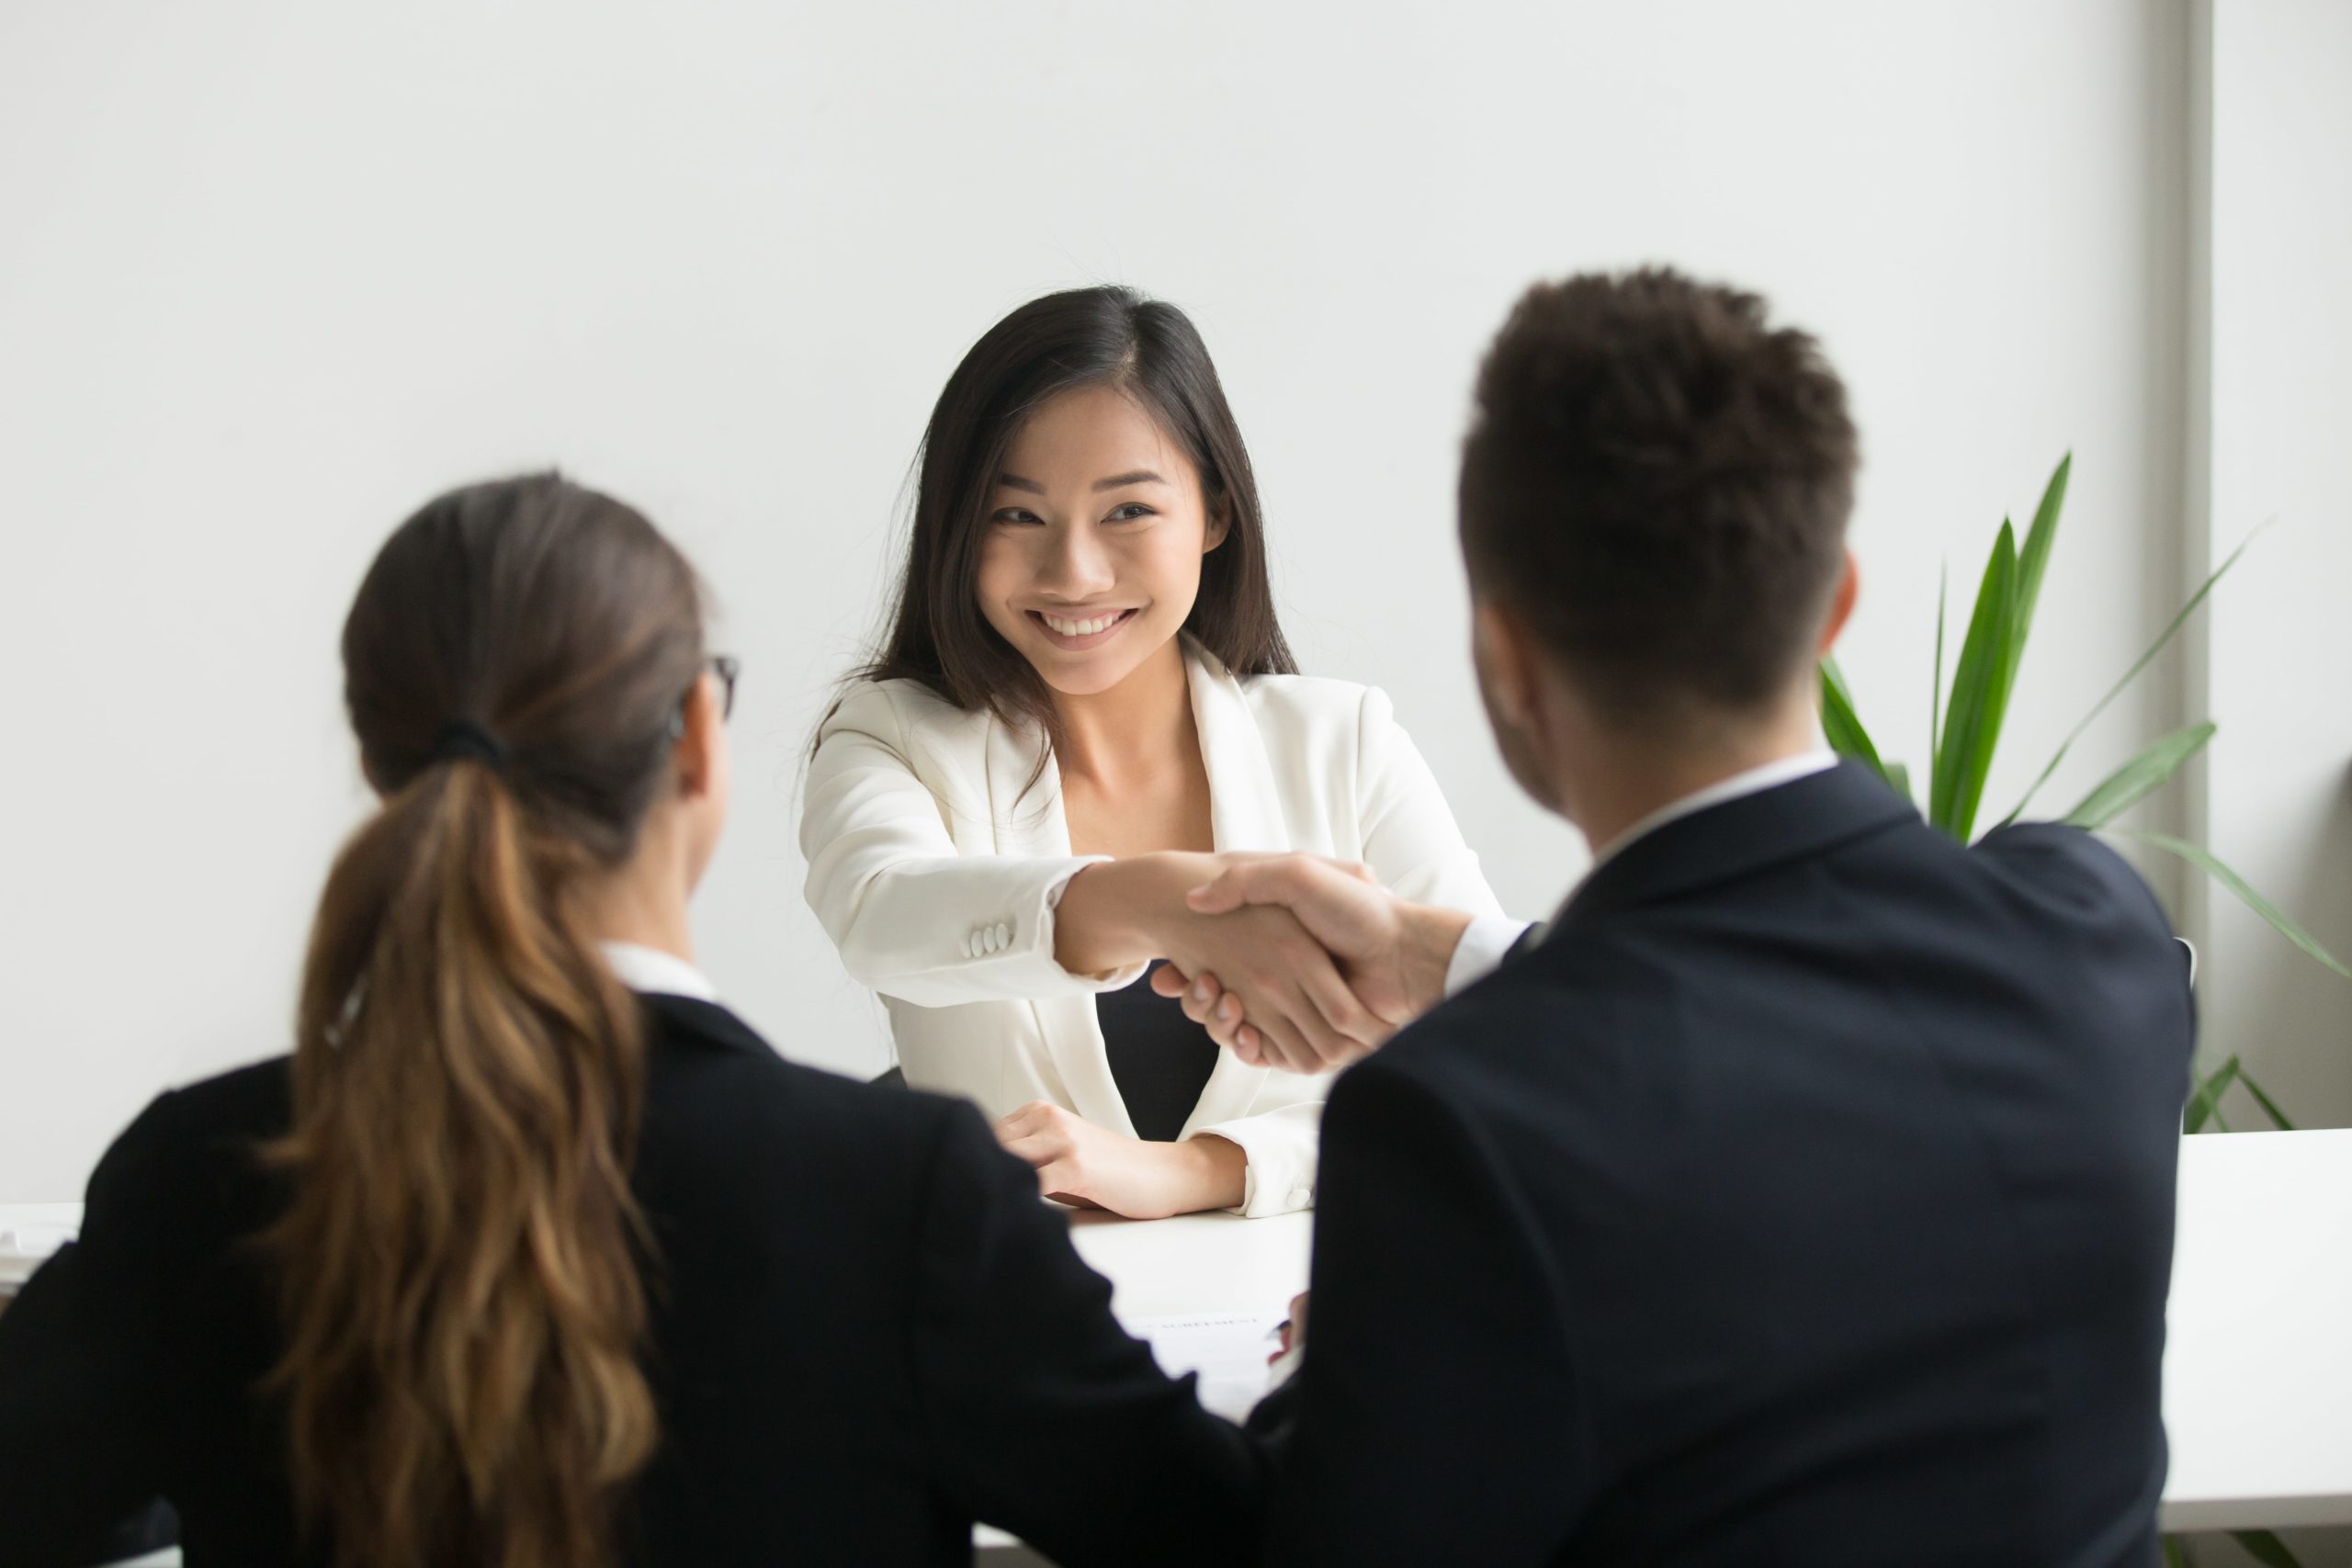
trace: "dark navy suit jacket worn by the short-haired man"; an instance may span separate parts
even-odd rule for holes
[[[1272,1561],[2154,1563],[2192,1032],[2084,832],[1637,839],[1336,1084]]]

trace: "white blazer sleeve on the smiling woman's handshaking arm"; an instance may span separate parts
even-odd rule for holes
[[[1073,976],[1054,959],[1054,910],[1103,856],[967,856],[915,776],[915,733],[891,691],[866,682],[826,719],[800,811],[804,893],[861,985],[917,1006],[1035,1001],[1131,985],[1143,966]],[[985,788],[976,788],[985,795]]]

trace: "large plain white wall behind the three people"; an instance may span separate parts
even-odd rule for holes
[[[2072,447],[2006,809],[2178,592],[2183,38],[2136,0],[0,9],[0,1201],[285,1048],[362,809],[348,595],[522,465],[720,585],[701,952],[786,1051],[880,1067],[800,900],[797,750],[941,378],[1070,282],[1195,313],[1308,665],[1395,693],[1526,912],[1581,853],[1486,743],[1449,508],[1526,280],[1672,259],[1823,331],[1867,442],[1846,663],[1912,759],[1938,559],[1964,604]],[[2122,703],[2053,804],[2171,719]]]

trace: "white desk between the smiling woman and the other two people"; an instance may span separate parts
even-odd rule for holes
[[[0,1206],[0,1229],[73,1213]],[[1075,1215],[1070,1234],[1127,1324],[1277,1312],[1305,1288],[1303,1213]],[[2183,1140],[2164,1425],[2166,1530],[2352,1523],[2352,1131]],[[1000,1542],[990,1566],[1023,1561]]]

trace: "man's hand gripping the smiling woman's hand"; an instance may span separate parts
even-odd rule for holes
[[[1195,889],[1188,903],[1202,914],[1225,914],[1249,905],[1287,907],[1305,933],[1324,945],[1341,978],[1388,1030],[1404,1027],[1444,999],[1446,966],[1470,926],[1468,914],[1404,903],[1362,865],[1312,856],[1237,863],[1216,882]],[[1152,990],[1181,997],[1185,1016],[1242,1060],[1291,1067],[1291,1053],[1268,1048],[1256,1018],[1225,994],[1228,987],[1214,971],[1188,973],[1171,961],[1152,976]],[[1310,1070],[1338,1067],[1374,1044],[1378,1041],[1362,1041],[1364,1048],[1357,1051],[1322,1053]]]

